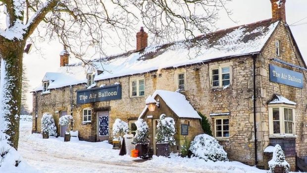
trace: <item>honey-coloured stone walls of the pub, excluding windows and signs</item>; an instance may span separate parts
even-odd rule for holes
[[[280,56],[275,54],[275,40],[280,41]],[[52,114],[58,126],[60,111],[67,111],[67,114],[72,113],[75,119],[73,129],[79,130],[79,138],[95,142],[97,141],[97,114],[99,112],[108,112],[110,132],[108,139],[111,140],[113,137],[111,128],[116,118],[129,123],[134,122],[142,113],[145,107],[145,100],[149,95],[152,95],[158,89],[167,91],[177,90],[178,74],[184,73],[185,90],[181,93],[186,96],[196,111],[201,112],[207,117],[211,124],[212,132],[214,133],[215,130],[214,122],[216,118],[229,118],[229,137],[217,139],[228,153],[230,160],[240,161],[248,165],[255,164],[254,115],[256,115],[257,166],[267,168],[268,159],[265,158],[263,151],[267,146],[274,143],[269,134],[267,102],[274,94],[282,95],[297,103],[295,108],[295,135],[291,136],[295,138],[295,151],[292,148],[291,152],[296,152],[298,157],[307,156],[307,73],[305,70],[274,61],[272,58],[278,58],[291,64],[306,67],[291,37],[290,31],[283,22],[279,23],[260,54],[223,58],[177,68],[164,68],[142,74],[97,81],[97,86],[102,84],[112,85],[115,82],[119,82],[122,87],[122,98],[120,100],[77,105],[76,91],[86,89],[85,83],[74,85],[71,88],[67,86],[60,89],[52,89],[50,94],[33,93],[33,112],[36,112],[38,115],[37,118],[35,115],[33,117],[36,119],[33,121],[33,132],[41,132],[40,121],[44,113]],[[305,76],[304,88],[300,89],[270,82],[269,64],[303,73]],[[220,66],[230,67],[230,85],[224,88],[212,88],[210,82],[211,69]],[[131,97],[131,81],[140,78],[145,80],[145,95]],[[254,99],[256,100],[256,105],[254,105]],[[254,114],[254,107],[256,114]],[[82,111],[85,108],[93,110],[92,121],[89,123],[82,122]],[[230,113],[230,115],[210,116],[212,113]],[[171,112],[169,114],[166,113],[166,115],[173,116]],[[175,121],[177,130],[180,128],[178,124],[190,121],[191,134],[188,136],[189,141],[195,135],[203,133],[198,119],[177,118]],[[153,128],[151,120],[148,120],[148,122],[150,128]],[[59,133],[59,128],[57,131]],[[178,140],[178,145],[181,145],[183,137],[176,136],[176,140]],[[285,137],[281,136],[280,140],[285,140]],[[286,160],[291,165],[291,170],[295,170],[295,157],[291,155]]]

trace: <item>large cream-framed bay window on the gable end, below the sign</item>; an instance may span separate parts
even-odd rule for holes
[[[288,108],[287,108],[288,107]],[[295,135],[294,109],[287,105],[269,105],[269,132],[271,136]]]

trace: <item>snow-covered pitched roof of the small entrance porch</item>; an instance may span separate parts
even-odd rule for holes
[[[199,118],[202,119],[200,115],[195,111],[190,102],[186,99],[181,93],[165,91],[165,90],[156,90],[153,93],[153,98],[159,95],[165,104],[178,116],[183,118]],[[147,111],[147,106],[145,106],[143,112],[140,114],[141,118]]]

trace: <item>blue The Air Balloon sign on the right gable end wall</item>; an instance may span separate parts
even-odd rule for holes
[[[269,64],[270,67],[270,81],[282,83],[289,86],[294,86],[297,88],[303,88],[303,74],[289,70],[287,68],[282,68]]]

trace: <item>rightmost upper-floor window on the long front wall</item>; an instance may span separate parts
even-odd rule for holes
[[[230,67],[211,69],[212,87],[223,87],[230,84]]]

